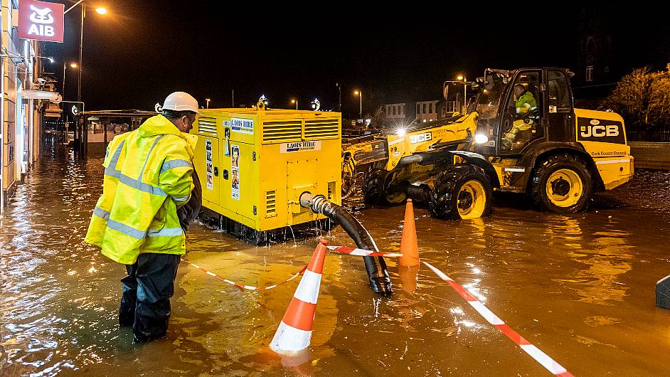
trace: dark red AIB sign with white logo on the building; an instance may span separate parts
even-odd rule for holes
[[[63,43],[64,10],[63,4],[20,0],[18,38]]]

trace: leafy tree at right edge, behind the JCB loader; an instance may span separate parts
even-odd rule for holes
[[[670,125],[670,73],[636,68],[621,79],[605,105],[634,127]]]

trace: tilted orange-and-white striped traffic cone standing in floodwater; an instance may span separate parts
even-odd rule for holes
[[[328,240],[321,238],[312,260],[307,265],[302,280],[293,294],[293,299],[286,309],[275,337],[272,338],[270,349],[277,354],[302,351],[309,346],[312,339],[312,324],[317,312],[317,298],[321,287],[321,274],[324,272]]]

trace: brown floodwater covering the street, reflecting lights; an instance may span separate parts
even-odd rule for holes
[[[368,288],[358,257],[326,257],[312,346],[268,344],[298,280],[240,291],[182,263],[166,338],[131,343],[119,329],[124,267],[85,245],[102,154],[55,150],[18,188],[0,224],[0,375],[543,376],[549,373],[426,267],[398,275],[392,297]],[[539,213],[519,196],[494,213],[447,222],[416,209],[423,260],[577,376],[666,375],[670,310],[654,285],[670,274],[670,172],[638,171],[590,211]],[[349,203],[379,247],[398,251],[404,208]],[[336,228],[331,245],[351,245]],[[267,286],[307,264],[317,238],[255,248],[203,225],[188,260]],[[416,279],[416,278],[418,279]]]

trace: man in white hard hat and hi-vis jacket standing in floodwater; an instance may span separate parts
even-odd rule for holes
[[[126,267],[119,325],[132,326],[133,343],[160,338],[168,328],[174,279],[186,253],[182,227],[200,206],[192,177],[198,138],[186,133],[197,114],[195,98],[174,92],[161,115],[107,147],[102,196],[85,242]],[[188,211],[180,216],[184,205]]]

